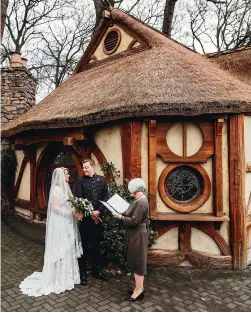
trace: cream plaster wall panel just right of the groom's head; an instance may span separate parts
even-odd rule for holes
[[[123,177],[123,166],[120,126],[106,127],[97,131],[94,135],[94,142],[102,151],[107,162],[112,162],[115,165],[116,169],[120,171],[121,178],[118,179],[117,182],[121,184]]]

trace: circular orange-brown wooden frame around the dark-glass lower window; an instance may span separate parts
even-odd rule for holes
[[[195,195],[191,200],[187,200],[184,202],[180,201],[175,201],[175,199],[168,197],[168,194],[166,192],[166,187],[165,187],[165,181],[167,176],[175,169],[179,167],[190,167],[193,170],[196,170],[199,172],[199,174],[203,178],[203,189],[201,192],[199,192],[197,195]],[[181,164],[171,164],[168,165],[163,172],[160,175],[159,178],[159,193],[161,196],[161,199],[165,202],[167,206],[170,208],[174,209],[175,211],[178,212],[192,212],[194,210],[197,210],[199,207],[201,207],[209,198],[210,192],[211,192],[211,182],[210,178],[207,174],[207,172],[204,170],[204,168],[200,165],[197,164],[186,164],[186,163],[181,163]]]

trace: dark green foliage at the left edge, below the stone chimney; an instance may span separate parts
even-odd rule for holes
[[[9,215],[14,212],[12,191],[15,182],[17,159],[15,151],[6,149],[1,152],[1,213]]]

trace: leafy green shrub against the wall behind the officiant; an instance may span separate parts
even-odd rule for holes
[[[120,178],[120,172],[116,170],[113,163],[104,163],[101,167],[106,175],[109,170],[113,173],[113,179],[108,181],[110,197],[115,193],[119,194],[126,201],[131,202],[133,198],[127,188],[128,181],[124,185],[118,185],[116,180]],[[121,225],[107,210],[107,214],[102,217],[103,220],[103,241],[101,242],[101,251],[112,269],[127,271],[128,267],[124,259],[125,231]],[[151,219],[148,220],[149,247],[153,245],[156,239],[156,232],[152,229]]]

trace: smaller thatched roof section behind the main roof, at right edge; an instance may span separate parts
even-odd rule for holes
[[[206,55],[216,62],[221,69],[251,85],[251,46]]]

